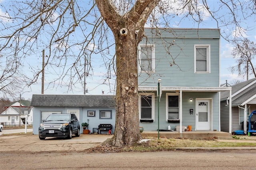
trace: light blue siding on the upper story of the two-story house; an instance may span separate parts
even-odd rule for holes
[[[160,31],[162,38],[145,29],[147,40],[140,44],[155,45],[155,72],[138,73],[140,87],[155,86],[158,78],[165,87],[219,87],[220,34],[217,29]],[[194,45],[210,45],[210,73],[194,73]]]

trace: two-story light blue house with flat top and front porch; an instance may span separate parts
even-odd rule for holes
[[[158,116],[158,79],[162,92]],[[139,44],[139,120],[144,130],[220,131],[218,29],[145,29]],[[182,133],[183,128],[178,131]]]

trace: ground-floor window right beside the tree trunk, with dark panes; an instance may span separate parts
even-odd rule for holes
[[[154,121],[154,93],[140,94],[139,98],[139,115],[140,122]]]

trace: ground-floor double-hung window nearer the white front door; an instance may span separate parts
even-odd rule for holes
[[[180,98],[178,94],[166,94],[166,117],[167,121],[180,120]]]

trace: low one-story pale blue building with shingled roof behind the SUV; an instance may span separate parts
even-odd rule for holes
[[[88,123],[91,132],[97,132],[100,124],[111,124],[114,133],[116,100],[113,95],[33,95],[31,105],[34,109],[33,134],[38,134],[40,123],[52,113],[75,113],[80,125]]]

